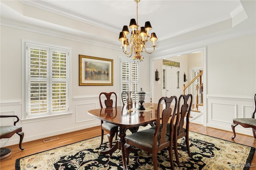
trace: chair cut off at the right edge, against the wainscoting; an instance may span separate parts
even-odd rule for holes
[[[256,139],[256,119],[255,119],[255,113],[256,113],[256,93],[254,94],[254,111],[252,112],[252,118],[237,118],[233,119],[233,124],[231,125],[234,136],[231,138],[234,139],[236,137],[236,131],[235,127],[237,125],[241,125],[244,128],[252,128],[252,133],[254,138]]]

